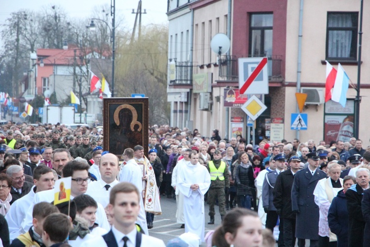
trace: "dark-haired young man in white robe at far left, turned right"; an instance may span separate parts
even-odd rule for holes
[[[10,243],[19,235],[23,234],[20,231],[21,224],[30,204],[33,206],[35,194],[45,190],[52,191],[54,187],[54,174],[51,169],[46,165],[38,165],[34,169],[34,184],[30,193],[15,201],[5,215],[9,227]]]

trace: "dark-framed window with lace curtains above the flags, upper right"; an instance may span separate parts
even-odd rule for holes
[[[357,59],[357,26],[357,12],[328,12],[327,59]]]

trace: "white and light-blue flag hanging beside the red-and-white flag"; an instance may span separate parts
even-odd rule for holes
[[[338,71],[335,77],[332,100],[338,102],[343,107],[346,106],[349,77],[343,67],[338,64]]]

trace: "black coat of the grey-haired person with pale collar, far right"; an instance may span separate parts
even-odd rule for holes
[[[348,246],[363,246],[365,230],[361,206],[363,192],[361,186],[356,184],[352,185],[345,194],[348,209]]]

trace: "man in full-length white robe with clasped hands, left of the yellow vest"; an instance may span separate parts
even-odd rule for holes
[[[207,168],[198,162],[198,154],[190,152],[190,162],[178,170],[178,187],[184,198],[185,232],[199,236],[204,242],[204,194],[211,185]]]

